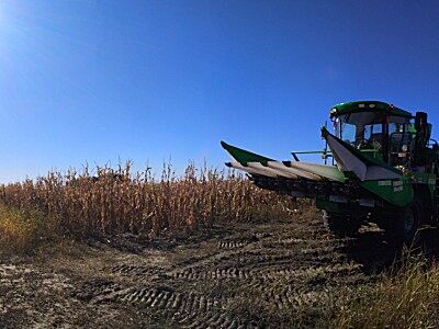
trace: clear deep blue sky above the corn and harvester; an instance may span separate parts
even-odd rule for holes
[[[221,139],[289,159],[350,100],[439,126],[438,3],[1,0],[0,181],[86,160],[223,168]]]

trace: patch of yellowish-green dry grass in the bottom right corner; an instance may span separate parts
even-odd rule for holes
[[[410,260],[378,285],[344,298],[334,328],[438,328],[439,268]]]

